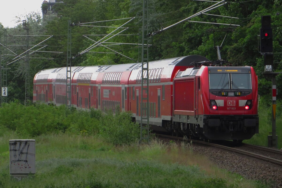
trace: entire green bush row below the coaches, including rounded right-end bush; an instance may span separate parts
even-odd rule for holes
[[[131,121],[131,114],[67,109],[37,103],[21,105],[5,103],[0,108],[0,136],[15,131],[22,136],[40,136],[50,133],[71,135],[95,135],[113,144],[135,142],[140,138],[140,127]]]

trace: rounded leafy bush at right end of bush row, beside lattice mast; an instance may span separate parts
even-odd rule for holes
[[[140,137],[139,124],[132,122],[131,113],[107,111],[100,118],[99,133],[102,138],[113,144],[136,141]]]

